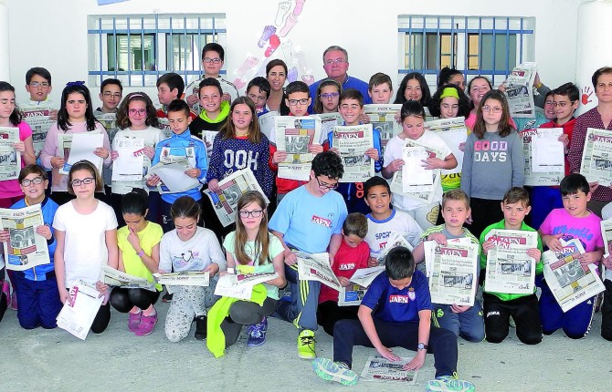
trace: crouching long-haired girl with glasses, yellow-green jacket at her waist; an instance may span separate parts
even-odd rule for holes
[[[280,240],[268,231],[266,201],[259,191],[248,191],[237,203],[236,232],[227,234],[228,271],[236,273],[278,273],[279,277],[264,283],[268,297],[262,306],[237,301],[229,308],[229,320],[221,324],[227,346],[236,343],[242,325],[248,325],[247,346],[261,346],[266,341],[268,318],[279,301],[279,288],[287,284]]]

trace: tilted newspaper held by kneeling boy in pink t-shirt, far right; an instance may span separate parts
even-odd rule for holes
[[[560,240],[563,250],[559,253],[543,253],[544,279],[554,298],[564,312],[606,290],[596,271],[596,265],[582,265],[581,253],[585,253],[578,239]]]

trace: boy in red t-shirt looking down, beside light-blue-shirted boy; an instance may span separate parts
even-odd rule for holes
[[[333,258],[332,271],[343,287],[351,285],[349,279],[355,271],[367,268],[370,248],[364,242],[367,219],[363,213],[350,213],[343,222],[343,242]],[[326,285],[321,286],[317,320],[327,335],[333,335],[333,325],[338,320],[357,319],[359,306],[338,306],[339,293]]]

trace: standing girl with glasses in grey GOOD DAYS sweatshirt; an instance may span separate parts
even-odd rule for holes
[[[508,101],[500,90],[491,90],[480,100],[476,123],[465,143],[461,189],[470,196],[470,232],[480,233],[500,222],[503,195],[522,187],[525,160],[522,138],[511,125]]]

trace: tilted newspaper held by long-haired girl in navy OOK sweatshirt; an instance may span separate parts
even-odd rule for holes
[[[220,192],[214,192],[207,189],[204,193],[213,204],[216,217],[224,227],[236,222],[238,199],[248,191],[259,191],[266,203],[269,203],[268,197],[261,190],[255,175],[248,168],[234,171],[225,179],[219,181],[218,187],[221,188]]]

